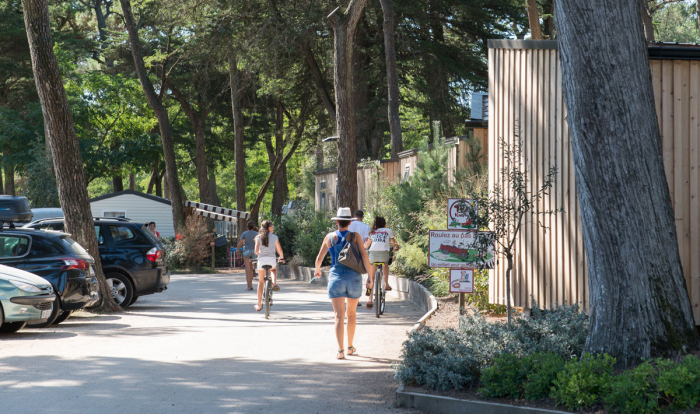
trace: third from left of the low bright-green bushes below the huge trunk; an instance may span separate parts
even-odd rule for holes
[[[569,410],[597,404],[610,388],[615,358],[608,354],[583,354],[580,361],[572,360],[554,380],[551,396],[557,404]]]

